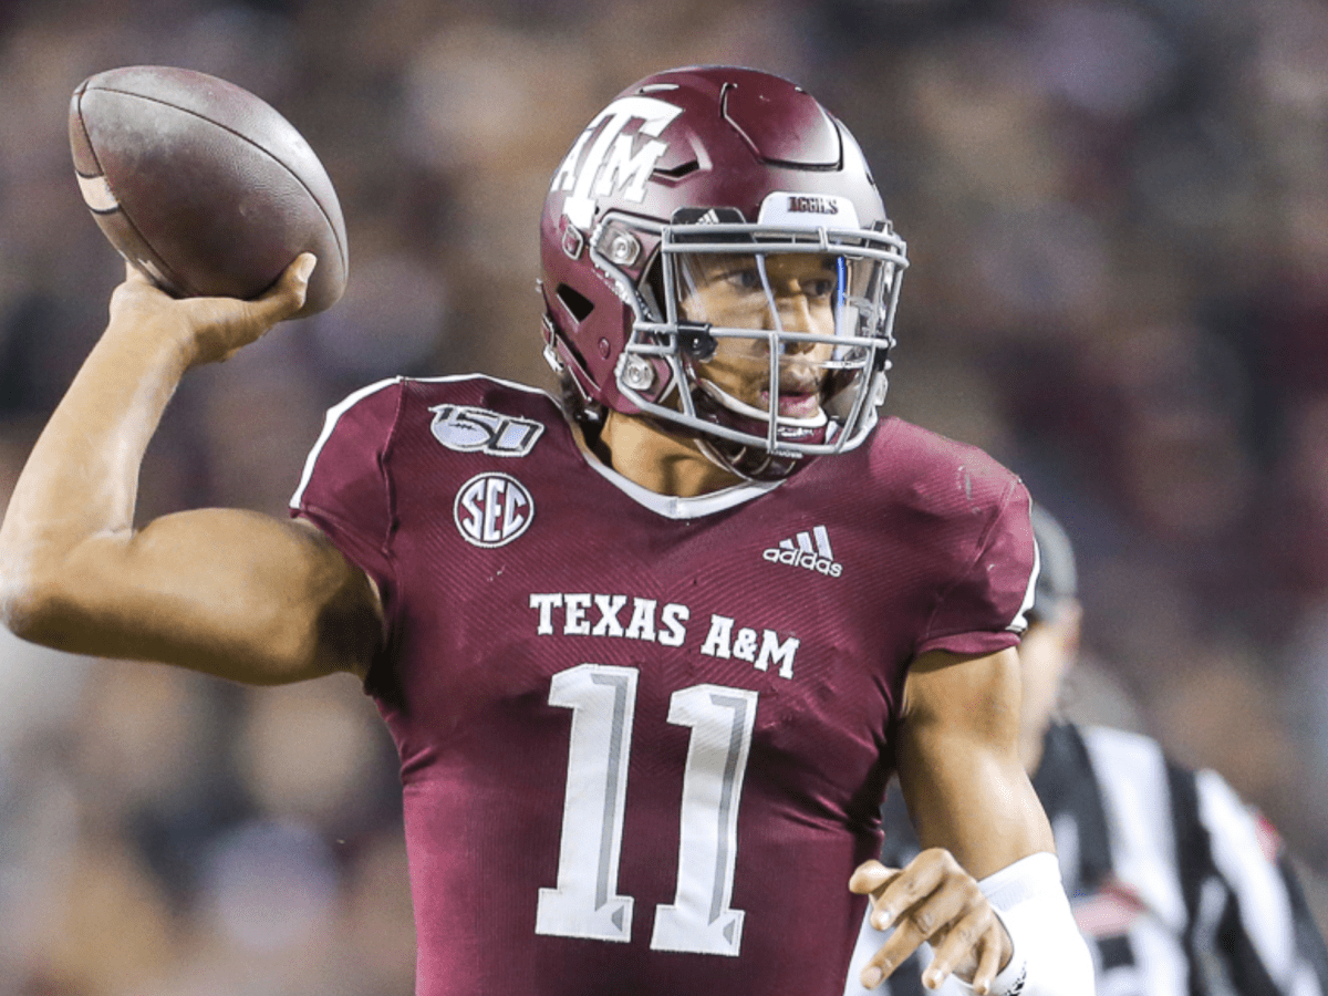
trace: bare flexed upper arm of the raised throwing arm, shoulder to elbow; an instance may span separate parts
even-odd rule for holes
[[[363,676],[381,640],[360,568],[308,525],[251,511],[185,511],[92,537],[46,603],[28,639],[252,684]]]

